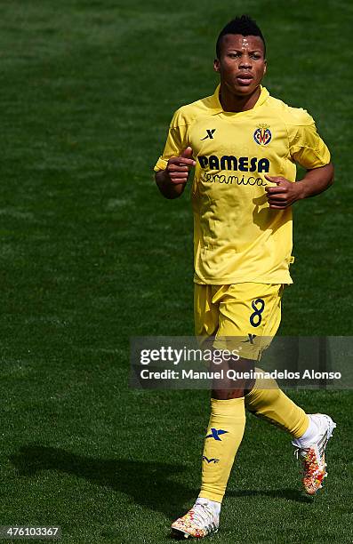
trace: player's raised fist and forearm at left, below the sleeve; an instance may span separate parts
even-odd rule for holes
[[[156,172],[156,185],[165,198],[181,196],[188,181],[189,170],[195,166],[192,149],[186,148],[181,156],[172,156],[165,170]]]

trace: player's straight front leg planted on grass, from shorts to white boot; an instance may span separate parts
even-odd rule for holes
[[[200,339],[207,339],[207,346],[212,348],[219,328],[219,300],[227,292],[228,286],[195,287],[196,335]],[[212,364],[210,370],[220,372],[222,369],[226,374],[229,364],[232,365],[232,362]],[[248,369],[249,364],[254,366],[253,361],[237,361],[235,368],[239,370],[243,366]],[[217,531],[221,501],[244,429],[245,381],[238,381],[237,385],[230,380],[214,381],[211,416],[202,457],[201,491],[194,507],[172,524],[174,532],[199,538]]]

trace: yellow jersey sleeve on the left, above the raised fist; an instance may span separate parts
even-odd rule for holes
[[[155,172],[165,170],[171,156],[180,156],[188,145],[188,123],[185,116],[182,115],[182,110],[178,109],[172,116],[164,152],[156,162]]]

